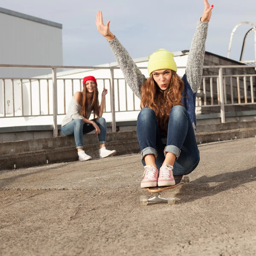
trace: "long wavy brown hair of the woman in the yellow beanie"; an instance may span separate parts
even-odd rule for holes
[[[168,131],[168,122],[172,107],[176,105],[183,106],[180,101],[182,98],[181,93],[184,90],[184,82],[175,71],[171,71],[171,82],[166,90],[160,89],[154,81],[152,73],[141,87],[140,108],[148,107],[154,110],[157,116],[159,130],[165,136]]]

